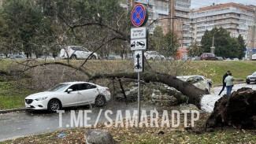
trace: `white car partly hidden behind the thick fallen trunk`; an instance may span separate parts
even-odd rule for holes
[[[204,76],[177,76],[177,78],[206,91],[210,91],[213,84],[211,79],[207,79]]]

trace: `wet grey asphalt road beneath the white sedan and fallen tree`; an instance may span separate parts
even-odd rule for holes
[[[251,87],[256,90],[255,84],[246,84],[240,83],[235,84],[233,90],[237,90],[241,87]],[[209,94],[209,97],[206,99],[206,105],[209,105],[210,109],[213,109],[214,102],[217,101],[217,94],[221,90],[221,87],[214,87]],[[221,95],[225,94],[224,90]],[[20,112],[20,113],[5,113],[0,114],[0,142],[5,141],[11,138],[19,138],[27,135],[38,135],[51,131],[60,131],[70,128],[71,114],[70,109],[65,109],[65,113],[62,114],[62,127],[59,127],[59,114],[58,113],[46,113],[46,112]],[[75,108],[76,110],[90,110],[88,107]],[[91,120],[88,120],[88,124],[95,124],[95,121],[98,118],[98,123],[103,123],[108,121],[104,116],[106,110],[112,110],[113,114],[109,114],[109,117],[112,120],[116,119],[117,110],[121,110],[123,117],[125,110],[130,110],[132,113],[133,110],[137,109],[136,103],[132,105],[125,105],[124,103],[116,103],[107,105],[102,109],[101,115],[98,117],[98,113],[101,111],[100,108],[92,109],[92,113],[89,113],[87,117],[90,117]],[[154,105],[142,105],[142,109],[152,110]]]

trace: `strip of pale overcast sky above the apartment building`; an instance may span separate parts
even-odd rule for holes
[[[213,4],[223,4],[228,2],[242,3],[244,5],[256,6],[256,0],[191,0],[191,9],[197,9],[200,7],[211,6]]]

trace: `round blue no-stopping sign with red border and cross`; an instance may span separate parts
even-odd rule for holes
[[[147,7],[141,4],[137,4],[132,9],[131,20],[135,27],[141,27],[147,23]]]

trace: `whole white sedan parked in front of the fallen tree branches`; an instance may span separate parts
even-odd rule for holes
[[[108,87],[102,87],[95,83],[69,82],[60,83],[48,91],[29,95],[25,98],[26,109],[48,109],[55,112],[58,109],[77,106],[105,105],[110,99]]]

